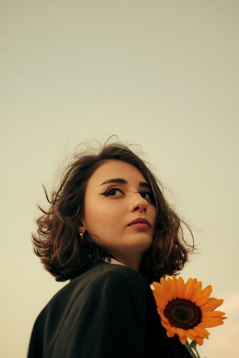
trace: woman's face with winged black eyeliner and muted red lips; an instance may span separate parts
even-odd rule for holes
[[[142,173],[133,165],[108,160],[89,178],[81,231],[109,254],[143,253],[152,243],[156,208]],[[131,224],[138,220],[138,223]],[[140,223],[141,222],[141,223]]]

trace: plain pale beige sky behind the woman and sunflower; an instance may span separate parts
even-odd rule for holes
[[[1,332],[26,356],[34,320],[63,283],[33,255],[41,184],[92,137],[142,146],[200,253],[182,272],[224,298],[200,347],[239,354],[238,1],[2,0]],[[237,327],[238,328],[238,327]]]

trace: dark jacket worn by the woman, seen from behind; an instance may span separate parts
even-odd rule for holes
[[[98,262],[57,292],[33,327],[28,358],[189,358],[161,326],[135,270]]]

